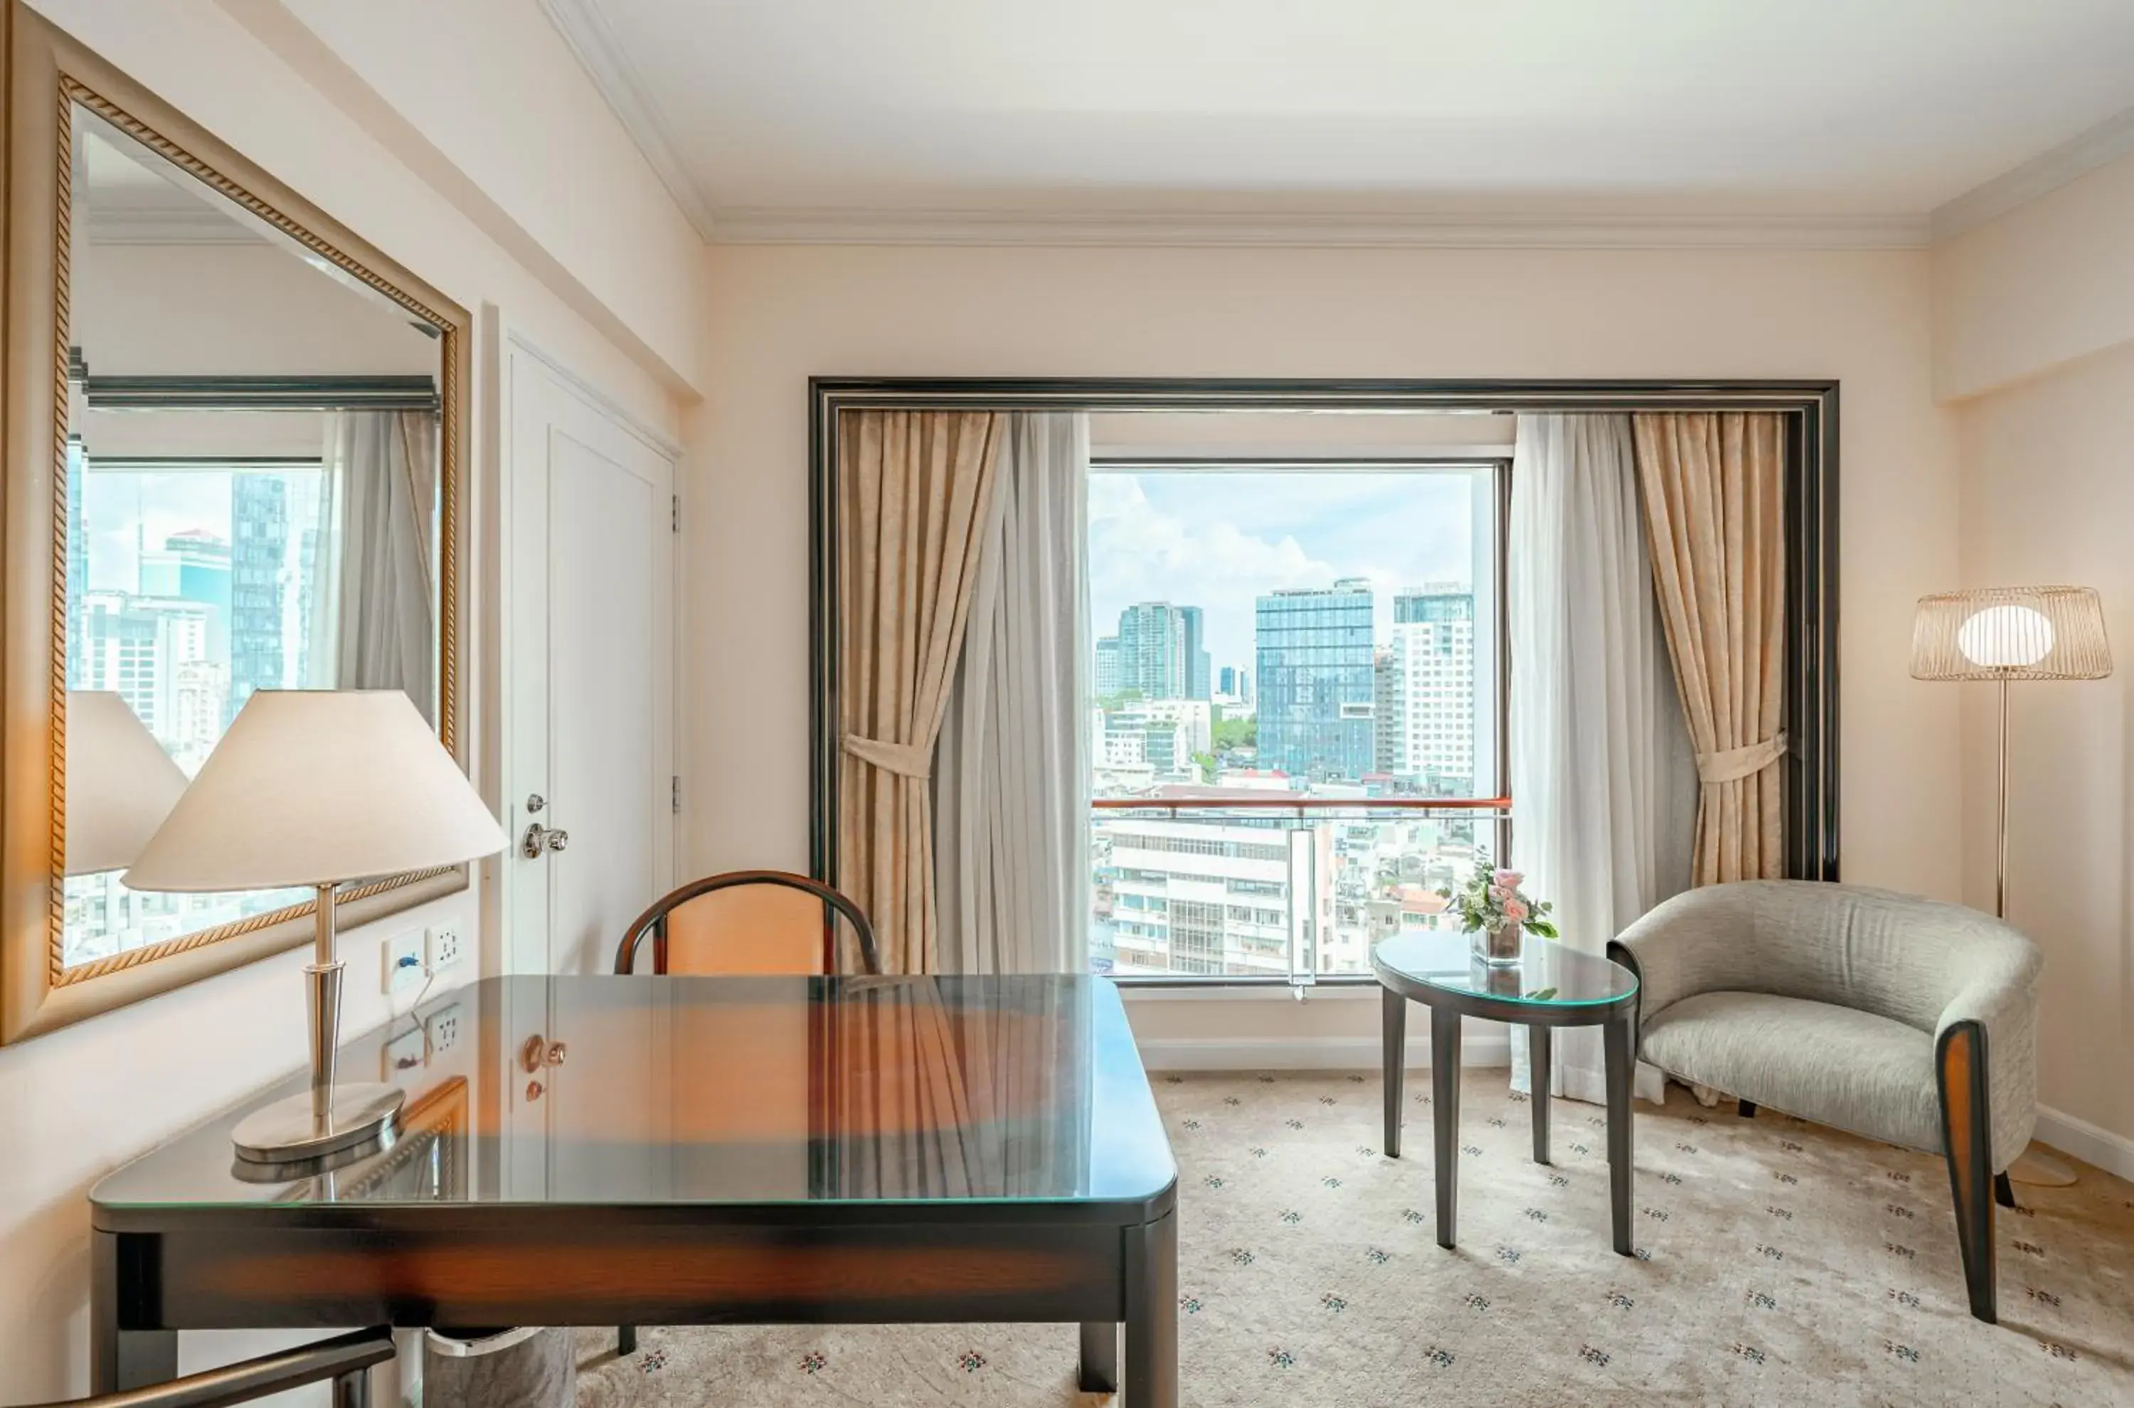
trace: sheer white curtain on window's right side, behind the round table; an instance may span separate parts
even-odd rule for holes
[[[1688,887],[1697,819],[1628,416],[1519,416],[1507,567],[1513,862],[1564,943],[1600,954]],[[1605,1099],[1598,1028],[1558,1033],[1556,1092]],[[1641,1069],[1637,1094],[1658,1099],[1660,1073]]]

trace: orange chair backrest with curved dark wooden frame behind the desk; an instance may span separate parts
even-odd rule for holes
[[[728,870],[659,896],[623,932],[615,971],[651,941],[653,973],[839,973],[839,919],[862,973],[881,973],[875,928],[845,894],[792,870]]]

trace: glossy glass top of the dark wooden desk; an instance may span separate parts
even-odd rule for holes
[[[239,1165],[230,1129],[290,1075],[94,1207],[1127,1203],[1176,1182],[1101,977],[482,979],[350,1041],[339,1073],[408,1092],[391,1146]]]

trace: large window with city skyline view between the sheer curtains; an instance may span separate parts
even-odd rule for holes
[[[1093,467],[1090,964],[1308,981],[1500,853],[1500,463]]]

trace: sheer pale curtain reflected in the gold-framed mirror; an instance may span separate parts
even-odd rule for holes
[[[327,420],[312,567],[314,689],[405,689],[435,721],[437,416]]]

